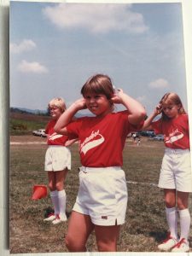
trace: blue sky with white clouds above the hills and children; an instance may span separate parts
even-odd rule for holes
[[[181,3],[11,2],[10,107],[69,107],[108,74],[151,113],[168,91],[187,109]]]

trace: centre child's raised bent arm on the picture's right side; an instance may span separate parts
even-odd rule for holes
[[[139,124],[146,116],[146,111],[143,106],[131,98],[131,96],[126,95],[123,90],[119,89],[118,93],[112,98],[114,103],[121,103],[130,113],[128,116],[129,122],[132,125]]]

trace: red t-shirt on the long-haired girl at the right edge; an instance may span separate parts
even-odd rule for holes
[[[164,135],[167,148],[189,148],[189,119],[187,114],[179,114],[175,119],[159,119],[152,123],[156,134]]]

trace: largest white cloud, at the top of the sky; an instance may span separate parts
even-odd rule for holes
[[[132,12],[131,4],[59,3],[46,7],[43,13],[60,28],[81,27],[94,33],[143,33],[148,30],[143,15]]]

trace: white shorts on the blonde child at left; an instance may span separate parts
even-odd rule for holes
[[[57,172],[65,169],[71,170],[71,152],[63,146],[51,145],[46,151],[44,170]]]

